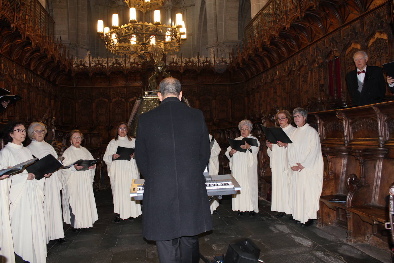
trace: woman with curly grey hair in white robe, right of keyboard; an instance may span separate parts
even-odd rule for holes
[[[235,140],[242,140],[242,138],[253,138],[250,132],[252,131],[253,124],[251,121],[244,119],[238,124],[238,129],[241,131],[241,136],[235,138]],[[257,189],[257,153],[260,146],[260,142],[257,140],[257,146],[251,146],[247,142],[241,145],[242,149],[246,149],[245,153],[238,152],[235,149],[231,149],[231,146],[227,148],[226,156],[229,159],[229,165],[232,176],[237,180],[241,187],[240,194],[234,194],[232,197],[233,211],[237,211],[239,216],[244,215],[246,211],[249,211],[250,216],[254,216],[258,213],[258,189]]]

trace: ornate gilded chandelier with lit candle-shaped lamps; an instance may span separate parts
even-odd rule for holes
[[[149,53],[154,60],[160,60],[163,53],[179,50],[181,41],[186,40],[185,22],[182,14],[176,15],[175,24],[162,24],[160,10],[164,0],[125,0],[129,7],[130,19],[119,26],[118,14],[112,15],[112,26],[104,27],[104,21],[97,21],[97,34],[104,40],[106,48],[113,54]],[[137,22],[137,10],[142,12],[142,22]],[[145,13],[154,10],[153,23],[145,22]],[[140,18],[139,18],[140,19]]]

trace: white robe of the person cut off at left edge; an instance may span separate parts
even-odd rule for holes
[[[0,169],[7,169],[1,166]],[[9,187],[11,178],[0,181],[0,263],[15,263],[14,244],[9,222]]]

